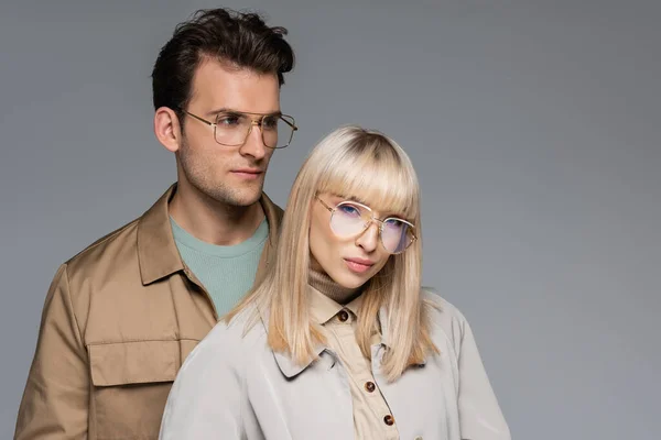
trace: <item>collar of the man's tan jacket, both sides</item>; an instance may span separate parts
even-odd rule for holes
[[[145,286],[185,268],[170,224],[169,204],[175,191],[176,184],[173,184],[138,222],[138,261]],[[269,239],[257,267],[256,280],[263,276],[274,254],[282,219],[282,209],[266,194],[262,193],[259,201],[269,222]]]

